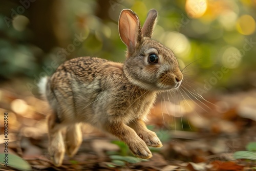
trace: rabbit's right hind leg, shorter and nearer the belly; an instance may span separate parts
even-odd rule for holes
[[[80,123],[75,123],[67,128],[66,150],[70,157],[73,157],[82,143],[82,131]]]

